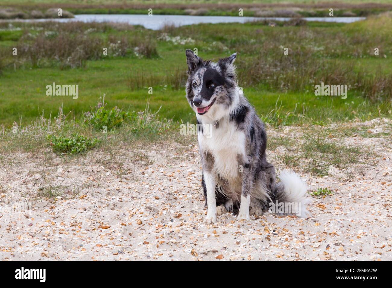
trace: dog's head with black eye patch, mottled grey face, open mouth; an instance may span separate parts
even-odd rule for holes
[[[227,108],[232,102],[231,92],[236,86],[236,71],[233,65],[237,53],[218,62],[205,61],[185,51],[188,64],[186,87],[189,105],[198,115],[212,115],[220,105]]]

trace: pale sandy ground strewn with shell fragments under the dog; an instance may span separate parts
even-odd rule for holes
[[[287,137],[296,130],[287,127],[279,133]],[[15,155],[18,164],[0,167],[0,259],[392,260],[392,149],[383,138],[354,135],[346,140],[374,148],[377,164],[354,167],[349,181],[339,179],[334,169],[334,176],[323,178],[297,171],[310,190],[334,191],[324,198],[307,196],[312,199],[309,219],[266,214],[238,222],[224,214],[215,225],[203,223],[207,211],[197,145],[181,155],[173,146],[154,147],[151,162],[132,163],[131,152],[124,151],[126,173],[121,178],[111,165],[98,161],[100,152],[69,163],[54,158],[45,165],[29,155]],[[268,151],[269,160],[274,162],[282,149]],[[53,185],[79,183],[83,190],[74,199],[51,203],[21,196],[42,189],[45,174]],[[24,201],[32,202],[32,211],[4,210],[6,203]]]

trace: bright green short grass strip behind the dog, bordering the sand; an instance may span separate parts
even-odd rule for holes
[[[135,60],[135,62],[140,60]],[[163,62],[161,60],[161,62]],[[174,121],[195,121],[195,115],[189,107],[184,90],[165,89],[153,86],[153,94],[148,89],[131,91],[127,87],[126,75],[129,73],[128,63],[123,60],[105,60],[103,63],[91,62],[87,69],[58,71],[53,68],[32,69],[25,71],[4,72],[0,83],[0,123],[11,125],[22,118],[29,123],[44,111],[44,116],[58,110],[64,103],[64,112],[72,112],[80,117],[96,105],[97,95],[107,93],[108,108],[114,106],[131,110],[143,110],[146,101],[150,100],[152,111],[162,106],[160,115]],[[99,67],[97,67],[99,65]],[[96,68],[94,68],[96,66]],[[106,68],[106,69],[105,69]],[[36,72],[39,70],[39,73]],[[20,74],[20,78],[18,78]],[[108,77],[110,75],[110,77]],[[79,85],[79,98],[72,96],[46,96],[45,86],[48,83],[65,83]],[[125,83],[124,83],[125,82]],[[152,84],[153,85],[153,84]],[[258,88],[244,89],[250,103],[256,107],[260,116],[270,123],[289,125],[316,121],[353,119],[357,115],[363,119],[378,116],[378,106],[371,104],[361,96],[349,95],[347,99],[332,99],[327,96],[316,97],[312,93],[271,92]],[[17,95],[17,97],[15,97]],[[278,108],[275,109],[275,106]],[[279,109],[280,107],[280,109]],[[275,110],[273,110],[275,109]],[[271,110],[273,110],[271,112]],[[278,110],[279,115],[275,114]],[[353,114],[352,111],[356,111]],[[271,112],[271,113],[270,113]],[[306,117],[298,116],[298,113]],[[288,116],[289,115],[289,116]],[[283,120],[282,120],[283,119]]]

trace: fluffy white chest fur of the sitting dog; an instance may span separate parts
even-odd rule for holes
[[[214,157],[212,173],[231,183],[238,182],[241,178],[238,156],[245,156],[245,134],[228,120],[221,120],[219,128],[213,127],[209,131],[211,135],[199,132],[198,140],[200,151],[208,151]]]

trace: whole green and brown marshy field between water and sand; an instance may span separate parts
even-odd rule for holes
[[[392,42],[388,15],[353,24],[201,24],[142,27],[107,24],[0,24],[0,123],[38,116],[75,119],[106,94],[107,107],[194,121],[185,100],[185,49],[203,58],[238,52],[238,80],[261,117],[273,124],[328,123],[389,115]],[[83,35],[83,36],[80,36]],[[70,45],[71,44],[71,45]],[[16,47],[17,55],[12,55]],[[78,49],[74,49],[78,47]],[[102,54],[108,47],[108,55]],[[287,47],[289,55],[283,54]],[[374,47],[379,55],[374,55]],[[46,85],[79,85],[79,97],[47,96]],[[315,96],[321,82],[348,85],[347,99]],[[152,94],[149,94],[152,87]]]

